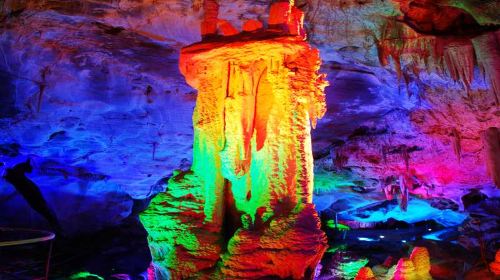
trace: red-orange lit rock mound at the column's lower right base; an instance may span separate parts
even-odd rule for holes
[[[239,229],[222,256],[224,279],[313,279],[326,250],[312,204],[277,217],[263,231]]]

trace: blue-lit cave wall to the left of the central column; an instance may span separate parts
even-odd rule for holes
[[[1,34],[1,171],[27,159],[68,233],[128,217],[191,160],[178,49],[92,17],[30,11]],[[35,32],[34,32],[35,31]],[[44,225],[4,179],[0,223]]]

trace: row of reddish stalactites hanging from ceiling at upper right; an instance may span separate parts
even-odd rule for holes
[[[380,36],[375,40],[379,62],[389,64],[392,58],[398,79],[409,81],[409,74],[418,76],[421,66],[428,73],[447,74],[460,82],[469,94],[477,64],[490,82],[495,102],[500,105],[500,31],[489,32],[470,39],[446,38],[422,35],[408,26],[388,19],[381,26]],[[408,68],[417,71],[407,72]],[[403,71],[404,69],[404,71]]]

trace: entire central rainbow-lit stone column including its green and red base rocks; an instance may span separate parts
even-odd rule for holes
[[[181,50],[179,69],[198,90],[193,165],[141,216],[158,269],[314,276],[326,236],[312,204],[310,130],[325,113],[327,83],[318,50],[298,33],[244,32]]]

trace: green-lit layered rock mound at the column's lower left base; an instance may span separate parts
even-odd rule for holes
[[[220,227],[204,223],[203,198],[200,179],[191,171],[179,173],[141,214],[158,279],[214,272],[223,240]]]

